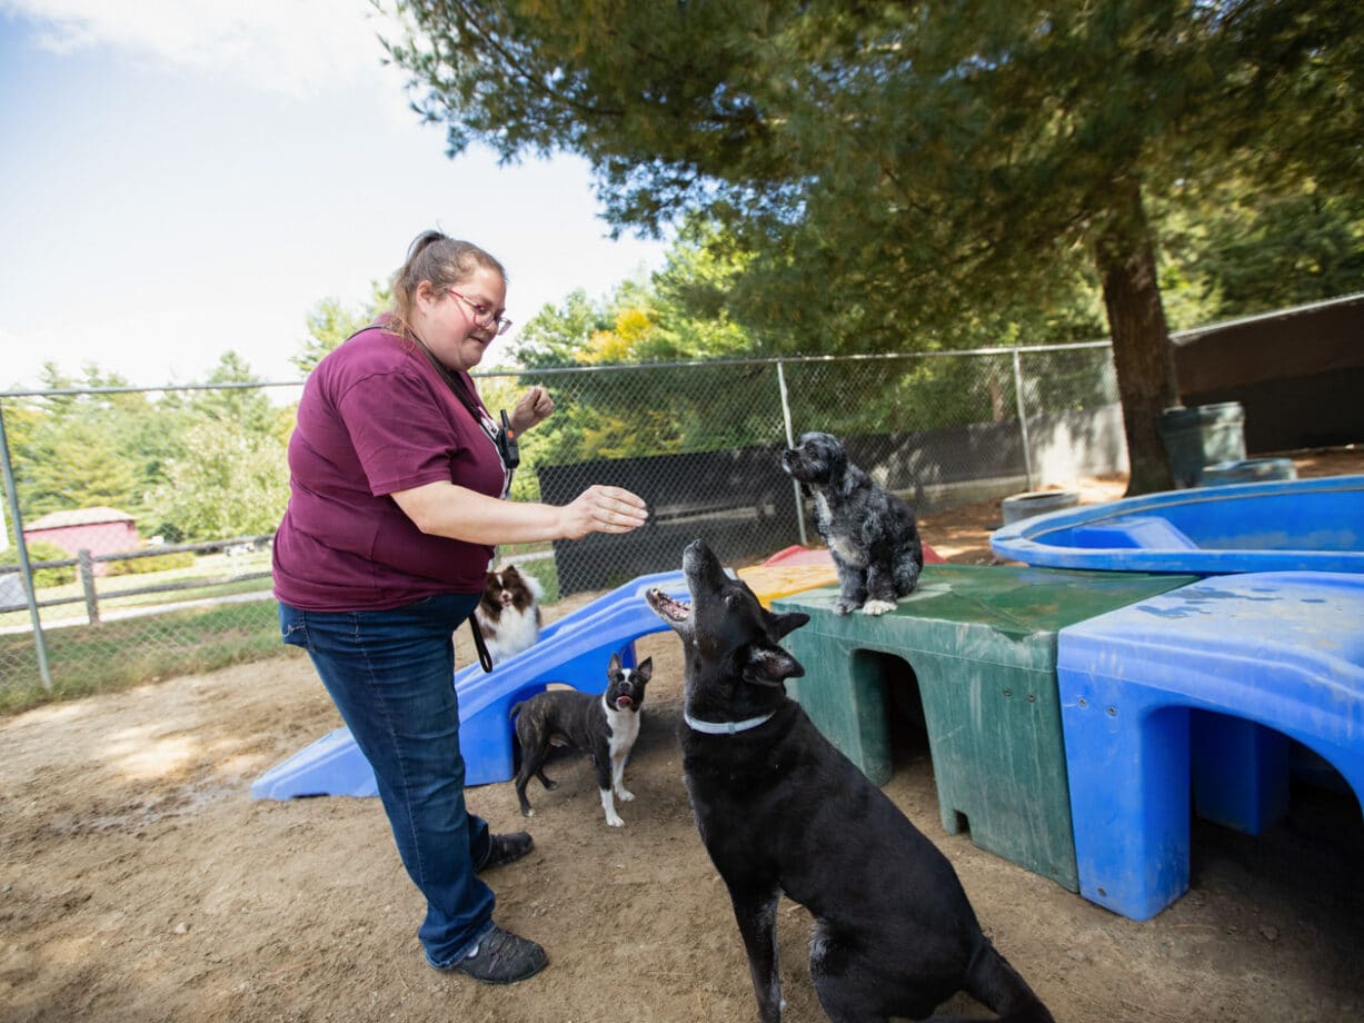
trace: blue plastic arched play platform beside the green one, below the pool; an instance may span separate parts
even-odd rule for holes
[[[1147,919],[1189,884],[1189,814],[1259,833],[1290,741],[1364,799],[1364,576],[1215,576],[1060,632],[1080,893]],[[1192,806],[1191,806],[1192,798]]]

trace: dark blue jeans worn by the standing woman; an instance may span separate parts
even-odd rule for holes
[[[453,633],[479,593],[391,611],[300,611],[280,604],[284,641],[303,647],[379,783],[398,855],[427,900],[417,937],[436,967],[492,925],[477,869],[488,825],[464,805]]]

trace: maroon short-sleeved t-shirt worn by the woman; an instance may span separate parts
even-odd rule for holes
[[[359,611],[481,592],[494,548],[427,536],[389,496],[436,480],[502,496],[506,476],[496,445],[426,353],[378,327],[327,353],[303,387],[289,439],[276,597],[306,611]]]

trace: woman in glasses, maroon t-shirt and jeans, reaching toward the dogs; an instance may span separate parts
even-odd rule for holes
[[[274,540],[284,641],[303,647],[374,767],[398,854],[426,896],[427,962],[479,981],[539,973],[544,949],[492,923],[481,870],[531,850],[464,803],[451,634],[483,593],[494,544],[625,533],[644,502],[589,487],[570,505],[505,501],[514,461],[469,370],[506,331],[506,273],[430,231],[393,281],[393,310],[308,376]],[[554,411],[540,387],[513,435]]]

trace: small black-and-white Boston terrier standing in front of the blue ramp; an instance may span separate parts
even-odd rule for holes
[[[535,813],[531,801],[525,798],[525,787],[532,775],[546,788],[559,787],[558,782],[544,776],[550,746],[570,746],[592,757],[606,822],[612,828],[625,827],[615,812],[612,797],[618,795],[625,802],[634,798],[625,787],[625,761],[630,758],[630,749],[640,735],[644,686],[652,674],[652,657],[645,657],[638,667],[627,668],[612,653],[607,666],[607,687],[600,696],[576,689],[547,689],[512,708],[516,738],[521,745],[516,794],[524,816]]]

